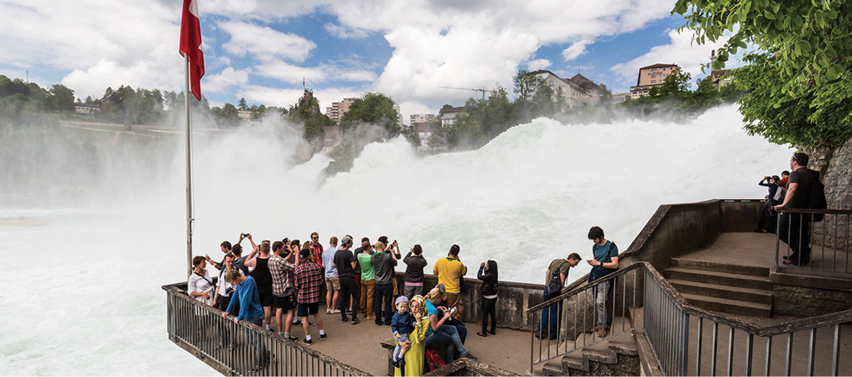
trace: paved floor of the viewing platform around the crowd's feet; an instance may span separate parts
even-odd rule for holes
[[[310,328],[311,339],[314,340],[314,345],[311,347],[370,374],[388,374],[388,350],[382,347],[381,342],[391,339],[390,326],[376,326],[371,319],[363,318],[360,318],[360,324],[353,325],[349,322],[344,324],[340,320],[340,314],[325,314],[325,307],[320,307],[320,311],[320,318],[323,319],[328,338],[320,341],[319,329]],[[314,321],[313,317],[311,321]],[[464,346],[479,359],[480,363],[517,374],[523,374],[529,369],[529,332],[498,328],[497,335],[488,335],[483,338],[476,335],[481,328],[480,324],[467,324],[467,328],[468,337]],[[301,325],[294,325],[291,332],[294,336],[304,338]]]

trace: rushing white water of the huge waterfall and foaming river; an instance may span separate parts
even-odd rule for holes
[[[482,149],[428,158],[397,138],[368,145],[351,172],[325,183],[327,157],[290,166],[293,148],[248,133],[197,138],[196,255],[218,259],[219,243],[243,232],[388,235],[406,250],[423,245],[430,265],[458,244],[469,277],[493,259],[500,279],[542,284],[550,260],[590,256],[591,226],[625,250],[660,204],[763,197],[757,181],[785,169],[790,153],[746,135],[733,106],[687,124],[538,119]],[[163,169],[174,174],[95,201],[109,205],[0,208],[43,222],[0,226],[0,374],[216,374],[165,333],[160,286],[184,280],[186,263],[173,153]]]

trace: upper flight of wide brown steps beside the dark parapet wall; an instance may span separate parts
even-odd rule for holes
[[[769,267],[706,262],[687,256],[672,258],[663,275],[696,307],[763,318],[772,313]]]

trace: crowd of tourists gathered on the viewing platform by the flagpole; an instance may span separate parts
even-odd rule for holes
[[[248,254],[242,247],[245,240],[251,245]],[[422,365],[429,351],[443,352],[446,363],[458,357],[475,359],[464,347],[467,329],[461,321],[462,290],[468,269],[458,256],[458,245],[452,245],[446,257],[435,262],[432,273],[438,284],[429,292],[424,292],[423,287],[423,270],[429,262],[420,245],[414,245],[404,257],[397,241],[389,242],[385,236],[375,243],[365,237],[358,248],[353,250],[353,246],[350,235],[342,239],[331,237],[324,247],[315,232],[304,244],[299,239],[286,238],[257,244],[251,234],[240,234],[233,245],[222,242],[221,262],[210,256],[193,258],[187,293],[220,309],[223,318],[233,317],[234,323],[256,324],[306,345],[316,339],[312,327],[317,328],[320,340],[328,336],[320,305],[325,305],[326,315],[339,314],[343,323],[355,325],[360,324],[360,318],[372,319],[377,326],[390,328],[389,335],[396,340],[393,363],[405,369],[406,375],[423,374]],[[406,270],[398,286],[394,277],[400,261],[406,264]],[[218,279],[210,278],[208,265],[216,268]],[[494,335],[497,262],[481,262],[477,277],[484,282],[482,330],[477,335]],[[323,285],[325,302],[320,302]],[[486,331],[489,316],[491,328]],[[294,334],[294,324],[301,325],[303,339]],[[250,342],[256,346],[257,355],[267,353],[260,342]],[[223,344],[227,345],[226,339],[220,346]],[[258,356],[256,368],[266,362],[268,359]]]

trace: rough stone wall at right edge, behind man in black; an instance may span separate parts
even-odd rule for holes
[[[820,172],[820,181],[826,186],[826,200],[831,210],[852,210],[852,138],[837,148],[804,148],[810,157],[809,167]],[[825,223],[814,227],[815,245],[826,245],[852,250],[849,237],[849,217],[827,216]],[[834,230],[838,234],[835,237]],[[825,228],[825,231],[823,231]]]

